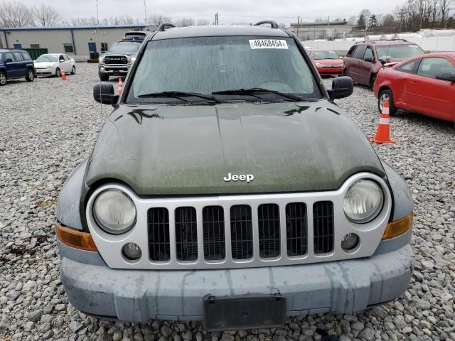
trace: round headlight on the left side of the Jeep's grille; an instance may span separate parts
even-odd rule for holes
[[[93,216],[105,232],[122,234],[136,222],[136,206],[122,190],[105,190],[95,199]]]

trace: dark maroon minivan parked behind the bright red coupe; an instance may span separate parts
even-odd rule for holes
[[[373,89],[376,75],[386,63],[400,63],[424,55],[419,45],[405,39],[370,40],[355,43],[343,59],[343,76]]]

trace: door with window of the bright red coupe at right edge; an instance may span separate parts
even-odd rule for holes
[[[438,80],[437,75],[452,73],[455,66],[444,57],[422,58],[417,72],[410,75],[407,97],[410,108],[441,119],[455,117],[455,83]]]

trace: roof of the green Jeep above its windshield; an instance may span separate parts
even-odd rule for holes
[[[191,26],[181,28],[168,28],[158,31],[152,40],[190,38],[190,37],[218,37],[218,36],[263,36],[289,38],[289,33],[281,28],[267,26]]]

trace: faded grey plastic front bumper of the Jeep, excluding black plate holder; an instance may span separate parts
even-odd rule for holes
[[[97,252],[58,245],[70,303],[90,315],[136,323],[203,320],[207,294],[279,293],[287,315],[353,313],[402,295],[414,268],[410,244],[364,259],[196,271],[110,269]]]

